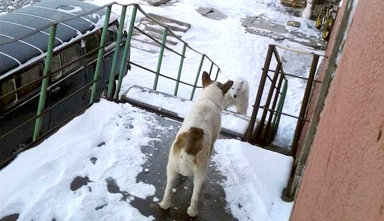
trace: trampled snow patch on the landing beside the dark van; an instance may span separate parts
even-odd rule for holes
[[[151,220],[107,191],[106,179],[121,190],[145,198],[155,187],[136,183],[146,156],[154,114],[128,104],[101,100],[35,148],[0,170],[0,217],[20,213],[19,220]],[[76,177],[86,186],[72,191]],[[101,207],[101,208],[100,208]],[[98,210],[96,210],[98,208]]]

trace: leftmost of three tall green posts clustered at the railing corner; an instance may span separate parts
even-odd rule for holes
[[[105,36],[107,35],[107,29],[109,25],[109,16],[111,15],[111,8],[112,5],[107,7],[107,13],[105,15],[104,19],[104,26],[103,26],[103,31],[101,32],[101,39],[100,39],[100,46],[104,45],[105,43]],[[95,70],[95,76],[94,76],[94,83],[92,85],[92,93],[91,93],[91,99],[89,101],[90,104],[94,103],[95,95],[96,95],[96,87],[97,87],[97,79],[98,75],[100,74],[100,69],[101,69],[101,63],[103,62],[103,53],[104,53],[104,47],[101,47],[98,50],[97,54],[97,63],[96,63],[96,70]]]

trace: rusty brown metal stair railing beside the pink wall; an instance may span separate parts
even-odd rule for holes
[[[311,65],[311,69],[309,71],[308,78],[304,78],[304,77],[300,77],[297,75],[285,73],[284,69],[283,69],[282,60],[280,59],[280,55],[277,51],[277,47],[282,48],[283,50],[288,50],[288,51],[292,51],[292,52],[296,52],[296,53],[313,55],[312,65]],[[276,65],[275,70],[269,69],[273,55],[275,56],[275,59],[277,61],[277,65]],[[313,83],[321,83],[321,81],[315,80],[316,69],[317,69],[317,65],[318,65],[320,56],[324,56],[324,55],[319,54],[319,53],[314,53],[314,52],[308,52],[308,51],[302,52],[302,51],[298,51],[296,49],[290,49],[288,47],[282,47],[282,46],[278,46],[278,45],[269,45],[267,56],[265,58],[264,67],[262,68],[262,75],[261,75],[259,87],[257,90],[255,104],[253,106],[254,109],[253,109],[253,112],[251,115],[250,124],[249,124],[247,131],[246,131],[246,134],[245,134],[245,140],[246,141],[255,142],[255,143],[257,143],[259,145],[263,145],[263,146],[268,145],[277,133],[277,128],[278,128],[278,125],[280,122],[281,115],[293,117],[293,118],[297,119],[297,124],[296,124],[296,129],[294,132],[294,136],[293,136],[293,140],[292,140],[292,144],[291,144],[291,148],[290,148],[290,155],[295,157],[297,147],[298,147],[298,141],[299,141],[304,123],[310,122],[310,120],[306,119],[305,115],[306,115],[306,112],[308,109],[309,97],[310,97],[311,91],[313,89]],[[273,78],[269,77],[268,72],[274,73]],[[280,79],[278,80],[279,75],[280,75]],[[285,97],[287,94],[287,88],[288,88],[288,81],[287,81],[286,76],[299,78],[299,79],[307,81],[306,88],[304,91],[303,100],[301,103],[300,113],[298,116],[294,116],[294,115],[282,112]],[[271,85],[270,85],[270,88],[268,91],[265,105],[260,105],[266,79],[269,79],[271,81]],[[283,83],[283,81],[284,81],[284,83]],[[282,83],[283,83],[283,88],[281,88]],[[276,86],[276,84],[277,84],[277,86]],[[276,92],[275,92],[275,96],[274,96],[274,99],[273,99],[273,102],[271,105],[272,96],[274,94],[274,91],[276,91]],[[278,104],[276,107],[277,101],[278,101]],[[256,129],[255,129],[255,122],[256,122],[256,116],[258,113],[258,109],[263,109],[263,113],[262,113],[261,119],[258,122]],[[266,121],[266,116],[267,116],[268,111],[270,112],[270,114],[269,114],[268,120]],[[274,117],[273,117],[273,115],[274,115]],[[272,120],[272,118],[273,118],[273,120]]]

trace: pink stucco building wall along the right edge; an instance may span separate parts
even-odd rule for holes
[[[291,221],[384,221],[384,0],[359,0]]]

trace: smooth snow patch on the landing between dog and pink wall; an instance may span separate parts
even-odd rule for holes
[[[293,203],[280,198],[293,158],[236,139],[219,139],[212,161],[226,177],[228,208],[239,221],[288,221]]]

